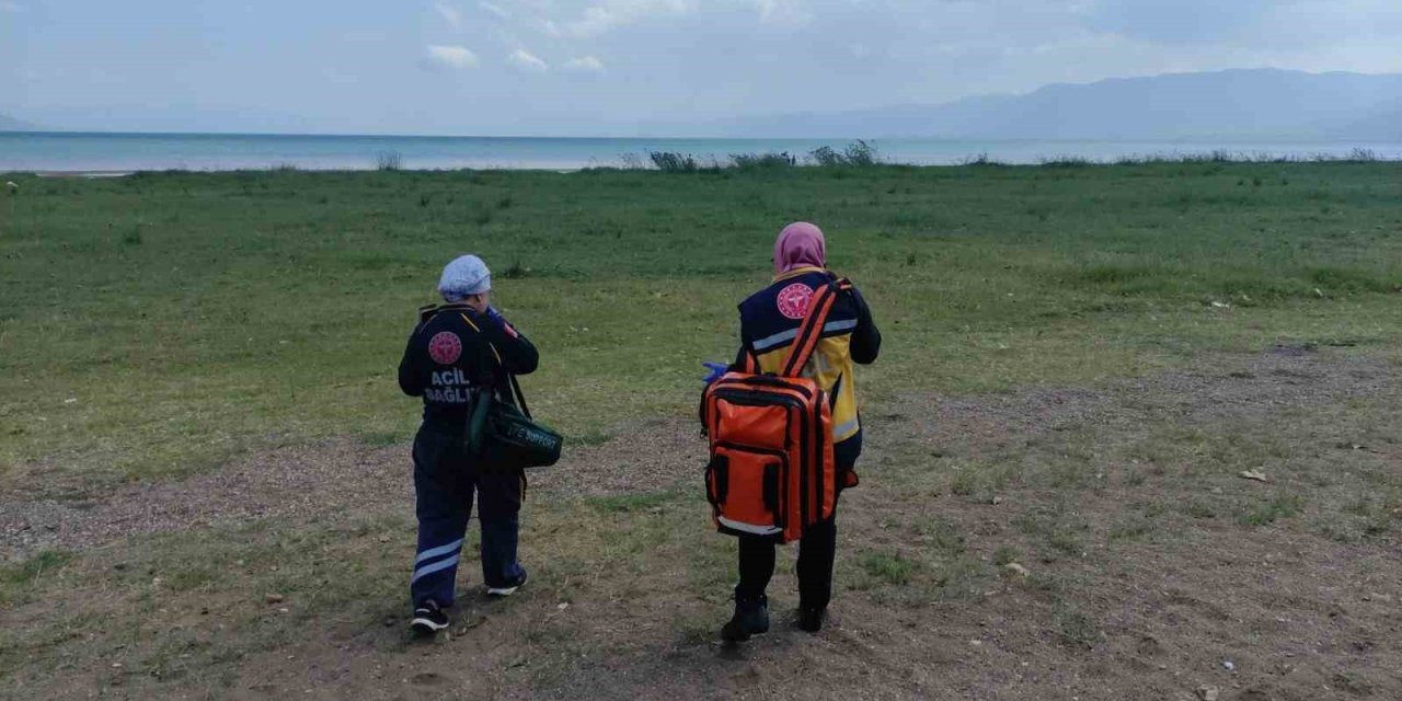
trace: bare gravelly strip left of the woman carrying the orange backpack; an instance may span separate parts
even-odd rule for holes
[[[652,492],[705,463],[684,422],[621,426],[628,442],[571,447],[558,467],[531,471],[540,498]],[[129,536],[252,519],[317,520],[346,513],[412,513],[409,446],[350,439],[243,457],[215,472],[93,494],[73,484],[0,494],[0,562],[39,550],[81,550]]]

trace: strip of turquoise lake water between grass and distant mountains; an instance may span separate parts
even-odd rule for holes
[[[374,168],[381,154],[397,154],[404,168],[547,168],[624,165],[629,154],[680,151],[702,160],[733,153],[788,151],[803,156],[820,146],[843,149],[845,139],[522,139],[479,136],[306,136],[0,132],[3,171],[243,170],[292,165],[307,170]],[[1359,142],[970,142],[887,139],[873,142],[883,158],[918,165],[960,163],[987,154],[1002,163],[1037,163],[1064,156],[1115,160],[1124,156],[1175,156],[1227,150],[1252,156],[1343,156],[1368,149],[1402,158],[1399,143]]]

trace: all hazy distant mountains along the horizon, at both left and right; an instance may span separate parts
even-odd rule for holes
[[[142,105],[31,111],[43,128],[111,132],[315,133],[258,108]],[[198,126],[198,129],[192,129]],[[0,115],[0,132],[43,129]],[[1023,95],[810,111],[709,122],[575,121],[541,135],[757,139],[1361,140],[1402,143],[1402,74],[1252,69],[1053,84]]]

